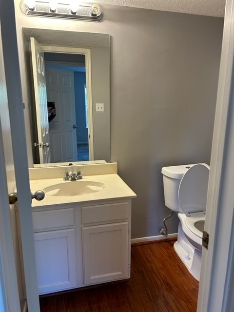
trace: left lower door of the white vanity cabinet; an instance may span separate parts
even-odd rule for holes
[[[34,234],[39,293],[76,287],[75,230]]]

